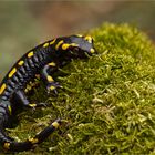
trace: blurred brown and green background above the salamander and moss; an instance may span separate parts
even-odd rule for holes
[[[0,80],[39,43],[81,33],[103,22],[131,23],[155,40],[155,1],[0,0]]]

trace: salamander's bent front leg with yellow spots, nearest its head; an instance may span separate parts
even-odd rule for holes
[[[56,89],[62,87],[59,82],[54,82],[53,78],[50,75],[55,70],[58,70],[56,64],[54,62],[51,62],[46,64],[41,72],[41,76],[43,82],[45,82],[48,93],[50,93],[50,91],[53,91],[55,94],[58,94]]]

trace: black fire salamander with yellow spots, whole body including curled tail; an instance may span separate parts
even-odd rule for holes
[[[22,107],[40,105],[29,102],[25,94],[28,84],[33,84],[33,80],[40,75],[46,90],[56,93],[60,84],[54,82],[51,74],[71,62],[72,59],[86,59],[95,52],[93,39],[89,35],[61,37],[30,50],[12,66],[0,84],[0,145],[4,151],[31,149],[43,142],[62,123],[62,120],[58,118],[34,137],[24,142],[17,142],[4,133],[19,105]]]

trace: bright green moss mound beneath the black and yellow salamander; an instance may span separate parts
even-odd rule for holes
[[[68,123],[34,151],[18,155],[155,153],[155,48],[127,24],[103,24],[89,33],[99,55],[65,66],[59,96],[37,93],[32,100],[42,95],[50,107],[21,113],[11,135],[32,136],[56,117]]]

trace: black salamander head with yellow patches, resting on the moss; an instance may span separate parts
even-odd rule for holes
[[[68,55],[71,58],[87,58],[96,53],[93,39],[90,35],[71,35],[64,38],[64,43],[62,44],[62,51],[68,51]]]

